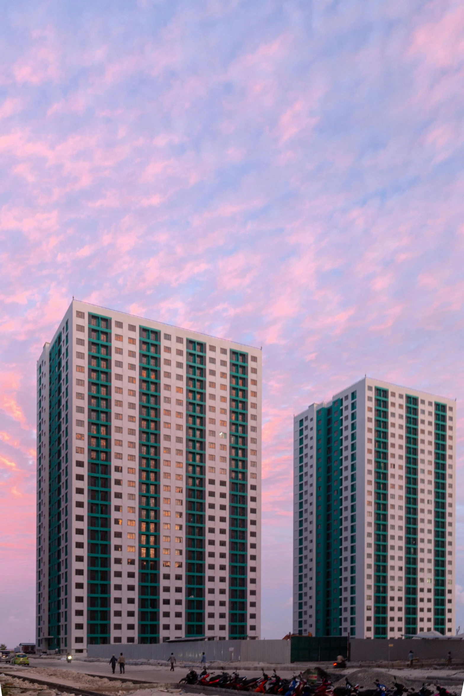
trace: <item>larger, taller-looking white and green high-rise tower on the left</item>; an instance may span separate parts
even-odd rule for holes
[[[40,651],[259,638],[261,351],[72,301],[37,401]]]

